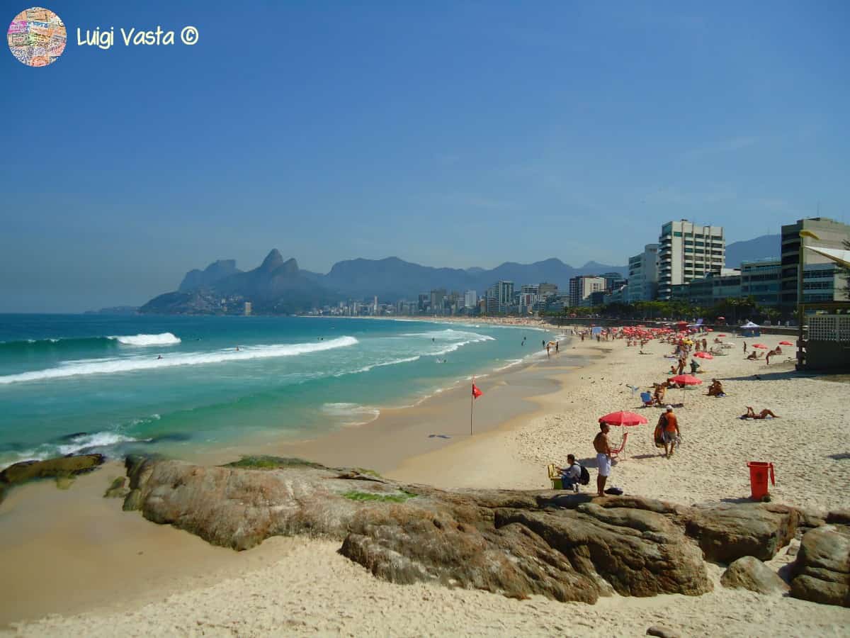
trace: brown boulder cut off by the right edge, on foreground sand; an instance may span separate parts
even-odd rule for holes
[[[850,528],[825,525],[805,533],[791,572],[795,598],[850,607]]]

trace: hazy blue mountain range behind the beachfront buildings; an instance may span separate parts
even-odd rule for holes
[[[744,259],[772,257],[779,254],[779,236],[761,236],[748,242],[731,243],[726,254],[727,264],[734,267]],[[475,290],[482,294],[500,280],[512,281],[517,287],[524,283],[549,282],[566,291],[571,277],[604,272],[627,276],[627,270],[626,266],[604,265],[595,261],[574,268],[555,258],[533,264],[508,261],[490,270],[478,267],[436,268],[388,257],[339,261],[323,275],[299,269],[295,259],[284,260],[275,248],[252,271],[241,271],[234,259],[219,259],[203,271],[189,271],[176,291],[151,299],[140,311],[215,314],[227,311],[222,299],[230,299],[237,304],[251,301],[253,310],[258,313],[289,313],[343,299],[376,295],[382,301],[415,299],[417,294],[436,288],[461,293]]]

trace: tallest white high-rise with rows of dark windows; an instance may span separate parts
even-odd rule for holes
[[[658,238],[658,299],[672,299],[673,286],[688,284],[726,265],[723,226],[668,221]]]

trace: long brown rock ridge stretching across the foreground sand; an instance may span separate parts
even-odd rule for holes
[[[125,510],[212,544],[246,550],[269,536],[320,535],[341,541],[340,553],[394,583],[588,603],[612,592],[706,593],[712,585],[704,558],[771,558],[801,520],[797,510],[775,504],[683,507],[551,490],[447,492],[297,459],[201,467],[130,458],[127,476]],[[814,555],[801,551],[798,561]]]

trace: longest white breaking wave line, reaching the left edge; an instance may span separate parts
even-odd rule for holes
[[[187,352],[184,354],[163,356],[133,356],[97,361],[75,361],[48,367],[45,370],[8,374],[0,377],[0,385],[21,383],[25,381],[44,381],[48,379],[64,379],[87,374],[114,374],[135,372],[139,370],[156,370],[163,367],[199,366],[212,363],[235,361],[251,361],[252,359],[269,359],[280,356],[306,355],[321,350],[333,350],[358,343],[354,337],[339,337],[328,341],[309,344],[277,344],[252,345],[240,350],[213,350],[211,352]]]

